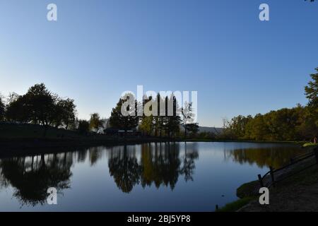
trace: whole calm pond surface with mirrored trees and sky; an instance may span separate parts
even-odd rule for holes
[[[0,159],[0,211],[213,211],[303,153],[271,143],[148,143]],[[46,203],[47,189],[58,204]]]

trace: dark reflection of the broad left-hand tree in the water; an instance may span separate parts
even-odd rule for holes
[[[0,162],[2,186],[11,184],[13,196],[21,205],[44,204],[47,189],[55,187],[59,193],[69,188],[73,157],[68,153],[11,157]]]

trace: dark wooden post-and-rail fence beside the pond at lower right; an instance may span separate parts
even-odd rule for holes
[[[310,157],[313,156],[314,158],[310,160]],[[275,186],[277,182],[280,182],[283,179],[293,176],[294,174],[298,174],[299,172],[302,172],[303,170],[308,169],[314,165],[318,165],[318,147],[314,148],[314,151],[310,153],[305,153],[304,155],[299,155],[297,157],[291,158],[290,163],[288,165],[285,165],[284,167],[278,169],[273,169],[273,167],[269,167],[269,172],[266,172],[266,174],[264,174],[263,177],[261,177],[261,174],[258,174],[259,183],[261,184],[261,187]],[[288,168],[290,167],[295,167],[295,169],[297,170],[288,170]]]

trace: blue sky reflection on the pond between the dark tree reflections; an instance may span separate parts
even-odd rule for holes
[[[155,147],[154,144],[151,146]],[[23,206],[20,210],[214,210],[216,204],[223,206],[235,200],[236,189],[240,184],[255,180],[257,174],[264,174],[268,170],[267,167],[261,169],[256,164],[240,164],[225,158],[225,153],[235,148],[261,148],[267,151],[269,149],[266,148],[274,146],[277,147],[278,144],[188,143],[187,152],[199,151],[199,158],[194,160],[196,168],[192,175],[193,182],[185,182],[183,175],[179,175],[173,191],[170,186],[160,186],[157,189],[153,184],[145,188],[136,184],[129,194],[118,189],[108,168],[110,150],[118,153],[123,147],[90,149],[83,162],[78,162],[78,153],[68,153],[67,156],[73,156],[71,189],[62,191],[58,205],[35,208]],[[92,150],[97,150],[99,157],[94,165],[90,161]],[[141,145],[128,146],[127,152],[129,156],[137,157],[140,163]],[[179,143],[179,158],[183,156],[184,143]],[[12,198],[12,193],[11,186],[0,190],[0,210],[19,210],[20,204],[16,198]]]

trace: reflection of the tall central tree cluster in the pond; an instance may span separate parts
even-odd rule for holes
[[[186,143],[185,147],[187,145],[191,147],[189,150],[184,148],[182,157],[179,154],[179,143],[145,143],[141,145],[140,162],[134,146],[112,148],[108,160],[110,175],[125,193],[129,193],[139,183],[143,188],[154,184],[157,188],[170,186],[173,190],[179,175],[184,175],[186,182],[193,180],[194,160],[199,157],[199,153],[194,143]]]

